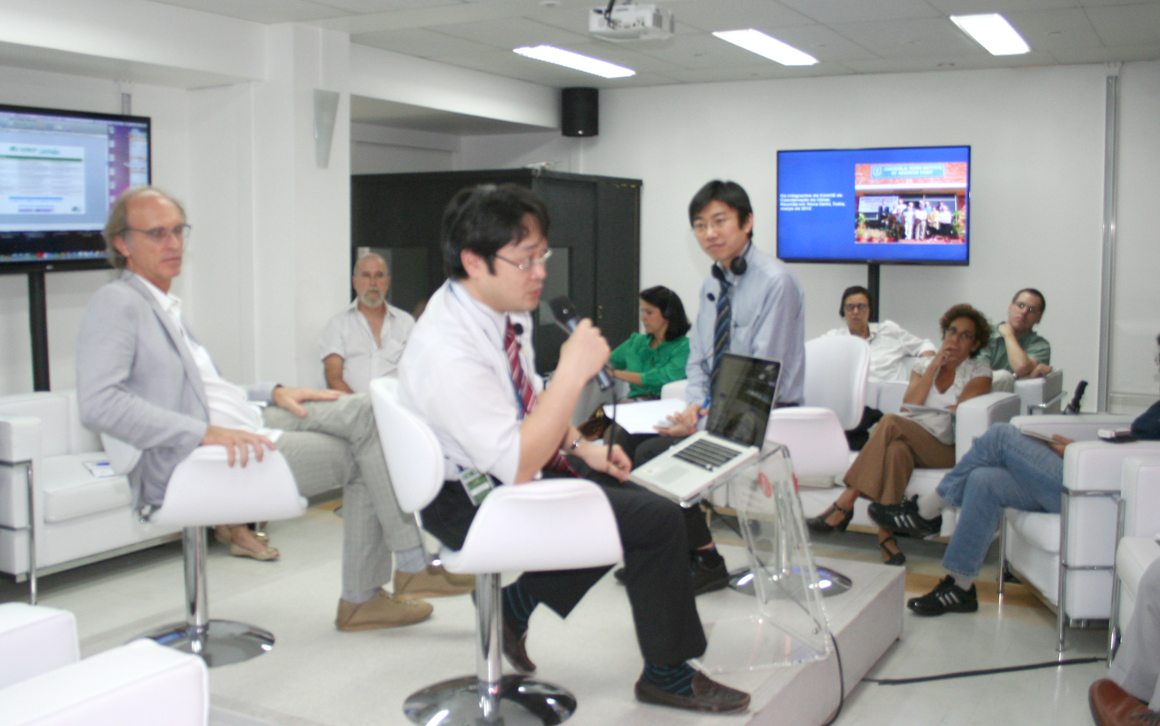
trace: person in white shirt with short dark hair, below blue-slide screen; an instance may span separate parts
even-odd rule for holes
[[[931,356],[935,344],[925,337],[902,329],[893,320],[870,322],[870,291],[862,285],[853,285],[842,291],[838,314],[846,320],[846,327],[834,328],[826,335],[856,335],[870,344],[870,382],[886,383],[906,380],[909,366],[906,358]],[[846,431],[850,449],[858,451],[870,437],[870,427],[878,423],[882,412],[867,406],[862,420]]]

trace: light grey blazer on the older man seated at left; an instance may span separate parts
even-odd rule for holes
[[[188,325],[186,332],[193,337]],[[269,402],[275,385],[246,386],[246,393]],[[77,395],[85,426],[140,450],[129,472],[136,506],[160,506],[173,470],[205,436],[209,401],[181,331],[128,270],[85,308]]]

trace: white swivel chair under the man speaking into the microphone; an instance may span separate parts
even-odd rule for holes
[[[443,453],[434,431],[399,404],[392,389],[371,382],[375,421],[399,507],[418,513],[443,486]],[[494,488],[479,506],[463,549],[440,552],[449,572],[476,575],[476,675],[416,691],[404,703],[404,713],[415,724],[445,726],[567,719],[575,711],[568,691],[503,675],[500,573],[599,567],[622,557],[612,509],[592,481],[550,479]]]

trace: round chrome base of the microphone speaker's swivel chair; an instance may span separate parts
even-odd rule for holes
[[[488,721],[479,705],[478,683],[476,676],[464,676],[428,685],[407,697],[403,712],[425,726],[552,726],[577,710],[575,697],[563,688],[507,675],[500,685],[498,718]]]

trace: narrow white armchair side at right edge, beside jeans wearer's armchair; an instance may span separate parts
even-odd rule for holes
[[[1121,631],[1132,619],[1144,571],[1160,559],[1160,456],[1129,456],[1121,478],[1116,567],[1112,571],[1108,658],[1116,656]]]

